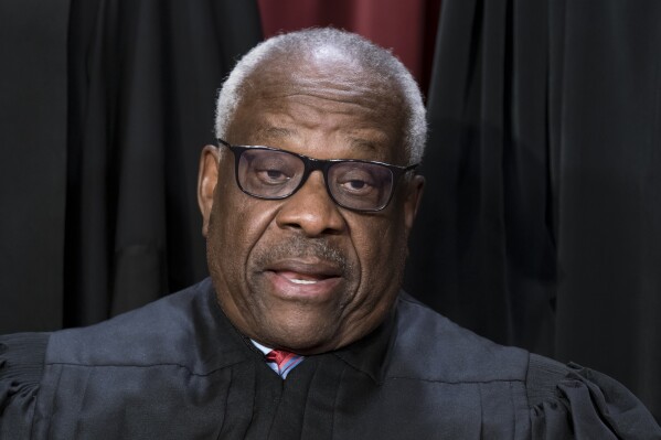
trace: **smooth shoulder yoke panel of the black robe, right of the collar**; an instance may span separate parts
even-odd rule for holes
[[[529,353],[495,344],[430,310],[406,293],[397,300],[391,375],[439,382],[525,380]],[[415,359],[416,368],[412,371]]]

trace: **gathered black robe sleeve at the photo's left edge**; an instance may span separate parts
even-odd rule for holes
[[[29,439],[49,333],[0,336],[0,439]]]

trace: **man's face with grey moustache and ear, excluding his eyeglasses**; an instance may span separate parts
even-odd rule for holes
[[[252,75],[226,141],[408,164],[393,87],[337,60],[291,64],[270,61]],[[207,147],[200,204],[224,312],[250,339],[300,354],[364,336],[398,291],[422,186],[402,178],[388,206],[359,213],[338,206],[314,171],[288,198],[259,200],[236,185],[234,154]]]

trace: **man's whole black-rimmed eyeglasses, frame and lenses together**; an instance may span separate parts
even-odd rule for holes
[[[266,200],[296,193],[312,171],[321,171],[330,197],[340,206],[361,212],[381,211],[393,197],[398,179],[409,167],[364,160],[320,160],[270,147],[220,144],[234,154],[236,184],[246,194]]]

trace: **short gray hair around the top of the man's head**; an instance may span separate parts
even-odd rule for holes
[[[360,35],[332,28],[307,29],[274,36],[259,43],[236,64],[223,84],[216,105],[215,132],[217,138],[226,135],[227,127],[237,109],[246,78],[259,64],[274,55],[314,54],[339,50],[362,67],[399,87],[406,104],[405,149],[411,163],[423,159],[427,138],[425,105],[417,83],[406,67],[390,51],[375,45]]]

